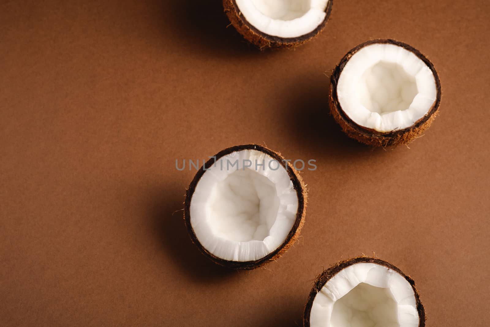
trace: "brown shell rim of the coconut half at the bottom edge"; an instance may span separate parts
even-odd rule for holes
[[[330,278],[337,275],[337,273],[339,273],[344,268],[347,268],[348,266],[361,262],[375,263],[380,266],[384,266],[386,268],[392,269],[398,274],[400,274],[402,277],[404,277],[410,283],[410,285],[412,285],[412,289],[414,290],[414,295],[415,295],[415,303],[418,312],[418,321],[419,321],[418,327],[425,327],[425,320],[426,320],[425,309],[424,306],[422,305],[422,302],[420,302],[420,296],[418,294],[417,288],[415,287],[415,281],[412,278],[410,278],[410,276],[405,275],[399,268],[395,267],[391,263],[378,258],[371,258],[368,256],[359,256],[356,258],[339,261],[335,265],[323,271],[315,279],[313,288],[310,292],[310,295],[308,296],[308,302],[306,302],[304,316],[303,316],[303,326],[310,327],[310,312],[313,305],[313,301],[315,300],[315,297],[317,296],[321,288],[326,284],[326,282],[329,281]]]

